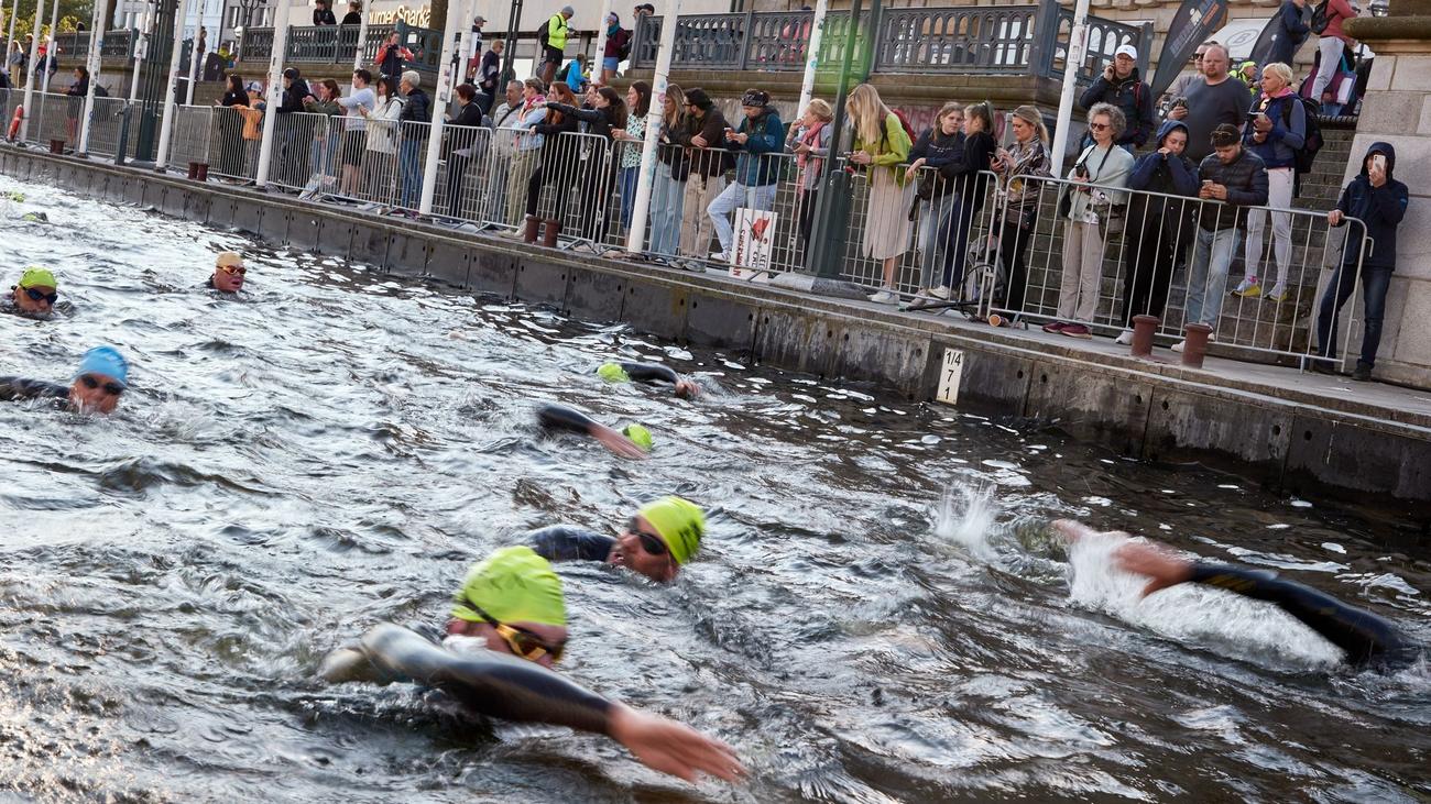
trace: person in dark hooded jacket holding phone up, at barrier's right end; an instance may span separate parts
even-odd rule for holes
[[[1317,343],[1324,358],[1337,356],[1337,313],[1357,289],[1357,260],[1361,260],[1361,292],[1365,300],[1367,329],[1361,336],[1361,358],[1351,378],[1371,379],[1381,346],[1381,319],[1387,310],[1387,289],[1397,270],[1397,227],[1407,215],[1407,186],[1392,179],[1397,152],[1391,143],[1371,143],[1361,160],[1361,173],[1342,189],[1337,209],[1327,213],[1327,222],[1341,226],[1348,217],[1365,223],[1365,232],[1348,232],[1342,265],[1322,295],[1317,315]],[[1364,237],[1369,237],[1365,239]],[[1317,368],[1331,368],[1315,363]]]

